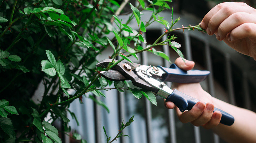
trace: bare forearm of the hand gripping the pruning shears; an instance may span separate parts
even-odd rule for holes
[[[232,126],[219,124],[212,130],[229,143],[255,143],[256,113],[216,98],[213,99],[215,107],[234,116],[235,122]]]

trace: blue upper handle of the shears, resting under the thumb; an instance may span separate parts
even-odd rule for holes
[[[157,66],[165,71],[162,81],[170,81],[177,83],[197,83],[205,80],[205,78],[210,74],[210,71],[200,71],[200,70],[181,70],[176,64],[172,64],[170,68],[165,68],[162,66]]]

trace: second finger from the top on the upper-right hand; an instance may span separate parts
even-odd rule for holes
[[[217,29],[219,25],[227,19],[230,15],[237,13],[237,12],[246,12],[249,13],[251,11],[250,8],[247,8],[245,6],[240,5],[234,5],[232,7],[223,7],[219,11],[217,11],[209,20],[208,27],[206,28],[206,31],[209,35],[213,35],[217,32]],[[227,26],[230,26],[231,24],[227,23]]]

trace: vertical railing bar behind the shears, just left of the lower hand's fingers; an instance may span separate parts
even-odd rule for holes
[[[163,34],[163,32],[162,32]],[[167,39],[167,35],[165,35],[163,37],[163,40]],[[170,57],[170,53],[169,53],[169,46],[167,45],[163,45],[163,52]],[[167,60],[164,60],[164,67],[169,67],[169,62]],[[168,82],[166,83],[166,85],[168,87],[171,86],[171,83]],[[176,138],[176,129],[175,129],[175,111],[174,110],[168,110],[168,119],[169,119],[169,136],[170,136],[170,143],[176,143],[177,142],[177,138]]]

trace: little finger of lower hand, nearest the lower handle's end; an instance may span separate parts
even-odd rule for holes
[[[206,124],[202,125],[202,127],[208,130],[208,129],[218,126],[221,121],[221,116],[222,116],[222,114],[220,111],[213,112],[211,120],[209,122],[207,122]]]

